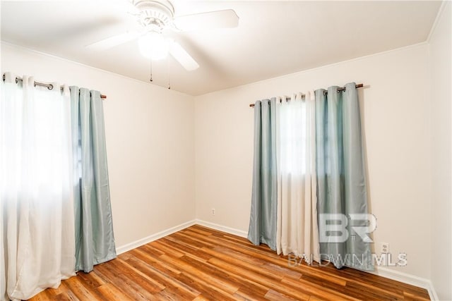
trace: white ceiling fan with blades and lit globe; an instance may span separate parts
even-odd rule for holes
[[[213,28],[233,28],[239,25],[239,17],[232,9],[196,13],[174,17],[174,6],[168,0],[124,0],[129,4],[139,29],[123,32],[86,46],[102,51],[133,39],[138,39],[141,54],[148,59],[163,59],[171,54],[186,70],[199,68],[198,63],[174,39],[167,37],[169,31],[183,32]]]

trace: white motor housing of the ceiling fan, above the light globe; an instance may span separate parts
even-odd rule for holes
[[[138,23],[149,30],[162,32],[172,24],[174,7],[167,0],[133,0],[133,5],[140,11]]]

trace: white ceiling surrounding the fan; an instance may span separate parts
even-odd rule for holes
[[[148,82],[136,41],[95,52],[85,45],[136,27],[121,1],[1,1],[1,39]],[[169,59],[153,79],[205,94],[424,42],[440,1],[172,1],[176,16],[232,8],[234,29],[174,34],[200,68]]]

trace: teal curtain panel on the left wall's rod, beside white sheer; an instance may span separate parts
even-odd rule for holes
[[[76,218],[76,270],[114,259],[105,125],[100,92],[70,87]]]

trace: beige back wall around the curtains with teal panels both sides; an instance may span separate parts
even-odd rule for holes
[[[249,104],[292,92],[362,82],[374,239],[408,254],[395,271],[429,278],[430,114],[427,44],[367,56],[195,98],[196,217],[248,230],[253,161]],[[302,49],[300,49],[302,55]],[[215,216],[211,209],[215,208]]]

